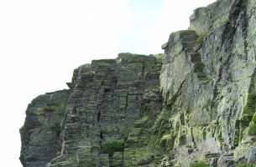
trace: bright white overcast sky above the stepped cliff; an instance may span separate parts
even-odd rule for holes
[[[92,59],[163,53],[170,33],[189,27],[193,9],[212,2],[1,0],[1,164],[22,166],[18,129],[32,99],[67,89],[73,69]]]

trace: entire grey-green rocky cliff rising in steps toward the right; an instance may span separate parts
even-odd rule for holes
[[[256,166],[256,1],[197,8],[164,54],[120,53],[39,95],[24,167]]]

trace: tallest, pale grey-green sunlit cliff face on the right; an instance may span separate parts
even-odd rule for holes
[[[191,30],[172,34],[165,46],[161,89],[171,122],[180,127],[175,134],[177,159],[207,153],[227,153],[232,159],[233,151],[239,159],[246,154],[236,154],[236,148],[251,139],[246,129],[255,112],[253,3],[218,1],[197,9]],[[230,10],[224,13],[222,7]],[[175,123],[180,117],[185,121]]]

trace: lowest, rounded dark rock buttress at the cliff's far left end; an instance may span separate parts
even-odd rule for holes
[[[24,166],[45,166],[59,154],[61,123],[65,116],[70,90],[40,95],[27,109],[25,124],[20,129]]]

